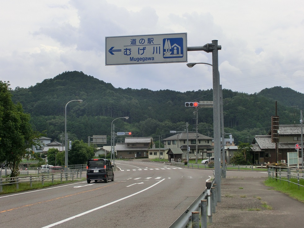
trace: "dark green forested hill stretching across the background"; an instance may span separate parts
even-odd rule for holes
[[[133,136],[166,137],[170,130],[179,127],[184,130],[185,122],[192,124],[194,109],[186,108],[186,101],[212,101],[212,89],[176,92],[114,88],[78,71],[64,72],[35,86],[17,87],[11,92],[12,100],[19,101],[25,112],[31,114],[34,130],[45,132],[54,140],[59,140],[64,131],[65,105],[71,100],[81,99],[83,103],[71,102],[67,106],[69,136],[84,141],[92,135],[109,135],[111,121],[123,116],[129,119],[115,121],[115,127],[122,131],[132,131]],[[223,89],[225,131],[234,133],[237,141],[251,141],[253,135],[265,134],[270,129],[271,116],[275,115],[275,100],[280,124],[298,123],[303,96],[282,87],[257,94]],[[198,118],[199,133],[212,137],[212,109],[200,109]]]

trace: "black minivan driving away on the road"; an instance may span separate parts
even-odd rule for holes
[[[106,183],[110,179],[114,181],[114,165],[111,165],[108,159],[89,159],[87,161],[87,182],[91,183],[91,180],[105,181]]]

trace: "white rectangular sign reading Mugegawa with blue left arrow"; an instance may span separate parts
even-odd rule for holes
[[[187,33],[105,38],[105,65],[187,62]]]

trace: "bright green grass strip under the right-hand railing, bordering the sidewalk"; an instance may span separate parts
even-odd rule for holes
[[[275,181],[275,179],[270,177],[264,183],[266,186],[270,186],[274,190],[283,192],[283,193],[289,195],[290,197],[297,199],[304,203],[304,187],[300,186],[300,189],[299,189],[298,186],[293,183],[289,183],[289,186],[288,186],[288,182],[283,181],[283,179],[284,178],[282,178],[281,181],[280,180]],[[286,178],[285,178],[285,180],[286,180]],[[295,178],[290,179],[290,181],[297,183],[297,179],[295,179]],[[300,180],[300,185],[304,185],[304,180]]]

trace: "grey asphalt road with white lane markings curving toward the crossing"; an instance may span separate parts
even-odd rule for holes
[[[212,170],[115,161],[114,182],[79,181],[0,196],[0,227],[169,227]]]

